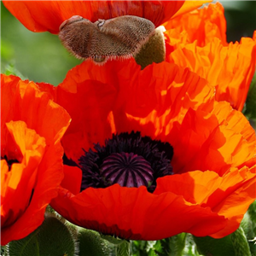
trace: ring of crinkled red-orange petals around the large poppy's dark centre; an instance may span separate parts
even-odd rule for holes
[[[140,70],[133,60],[109,61],[101,67],[84,61],[55,90],[40,85],[68,108],[76,124],[73,141],[67,137],[66,145],[63,143],[67,152],[70,146],[75,149],[76,143],[82,147],[81,141],[88,150],[93,143],[103,144],[112,133],[124,131],[140,131],[143,136],[170,143],[174,150],[174,174],[160,178],[174,187],[160,191],[158,180],[154,194],[143,187],[122,188],[118,184],[78,193],[81,172],[68,167],[58,197],[51,202],[64,218],[103,234],[136,240],[161,239],[180,232],[214,236],[222,230],[230,233],[240,223],[239,216],[253,198],[254,177],[248,167],[253,167],[255,135],[247,119],[230,103],[214,102],[213,87],[206,79],[167,62]],[[94,111],[96,129],[84,121],[90,124]],[[80,156],[82,149],[78,150]],[[242,175],[237,171],[240,169]],[[218,192],[218,185],[223,193]],[[245,202],[237,208],[233,222],[231,213],[225,213],[225,198],[236,196],[240,189],[245,191]],[[214,201],[218,195],[219,201]]]

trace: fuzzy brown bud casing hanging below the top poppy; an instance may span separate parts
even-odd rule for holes
[[[154,24],[137,16],[92,23],[76,15],[61,24],[59,38],[77,58],[104,62],[136,55],[153,34]]]

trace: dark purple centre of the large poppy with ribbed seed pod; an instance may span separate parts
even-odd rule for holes
[[[96,143],[79,158],[83,172],[81,191],[119,183],[129,188],[145,186],[148,192],[153,192],[158,177],[173,174],[172,155],[169,143],[142,137],[138,131],[113,134],[105,145]],[[74,165],[66,156],[63,160],[65,165]]]

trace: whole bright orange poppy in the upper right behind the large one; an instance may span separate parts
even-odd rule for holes
[[[226,42],[224,8],[210,4],[166,22],[166,61],[189,67],[215,86],[216,99],[242,110],[255,71],[256,44]]]

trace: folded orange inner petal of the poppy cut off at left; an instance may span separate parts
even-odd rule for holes
[[[20,212],[24,212],[29,205],[32,189],[37,182],[37,168],[43,159],[46,147],[44,137],[31,129],[27,129],[23,121],[9,122],[6,124],[9,131],[8,144],[15,143],[15,148],[20,151],[22,159],[19,164],[13,164],[10,172],[5,172],[4,176],[8,180],[3,181],[4,190],[1,193],[1,228],[7,226],[9,216],[19,218]],[[9,148],[7,148],[9,149]],[[14,152],[9,156],[15,156]],[[11,157],[12,159],[12,157]],[[1,160],[3,162],[5,160]],[[4,163],[3,163],[4,165]],[[20,195],[22,195],[20,197]],[[19,198],[19,200],[17,200]],[[14,204],[15,201],[15,204]]]

